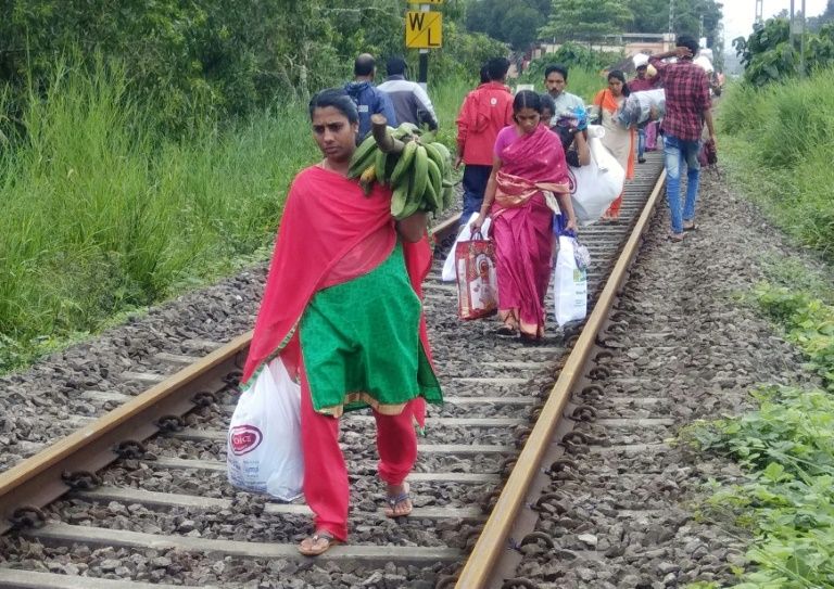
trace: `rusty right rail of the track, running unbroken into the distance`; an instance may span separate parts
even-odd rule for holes
[[[617,299],[621,284],[628,276],[629,268],[637,254],[643,233],[648,228],[654,215],[660,189],[666,180],[662,171],[655,183],[646,205],[623,246],[617,264],[597,299],[594,310],[585,322],[582,333],[559,372],[556,384],[551,389],[547,401],[533,426],[532,432],[518,457],[516,465],[484,524],[483,532],[464,565],[457,584],[457,589],[485,589],[491,580],[491,574],[498,562],[502,551],[508,550],[507,538],[513,524],[525,503],[530,484],[538,472],[553,433],[561,419],[565,406],[570,399],[576,383],[582,377],[582,369],[589,360],[596,336],[605,325],[608,312]]]

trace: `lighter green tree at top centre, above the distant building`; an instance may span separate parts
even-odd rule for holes
[[[558,41],[595,40],[621,31],[633,20],[621,0],[553,0],[551,18],[539,35]]]

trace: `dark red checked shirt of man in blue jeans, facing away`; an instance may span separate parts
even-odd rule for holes
[[[649,57],[666,90],[664,132],[683,141],[697,141],[704,129],[704,113],[711,107],[709,78],[692,60],[664,63]]]

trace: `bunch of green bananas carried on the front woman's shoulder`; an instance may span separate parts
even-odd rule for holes
[[[418,210],[437,213],[454,204],[452,154],[437,141],[425,141],[420,130],[403,123],[389,132],[405,143],[402,153],[384,153],[372,136],[356,148],[348,170],[349,178],[358,178],[365,194],[374,182],[391,187],[391,215],[404,219]]]

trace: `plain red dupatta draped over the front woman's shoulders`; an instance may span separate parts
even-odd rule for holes
[[[279,354],[287,370],[295,375],[301,361],[296,326],[307,303],[333,265],[383,227],[391,230],[393,247],[396,235],[389,189],[375,184],[370,195],[365,196],[355,180],[318,166],[295,177],[241,382],[249,381],[262,364]],[[403,254],[412,286],[421,295],[420,284],[431,267],[428,239],[404,243]],[[431,359],[425,317],[420,320],[420,341]],[[422,417],[415,417],[422,425]]]

